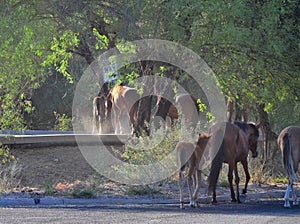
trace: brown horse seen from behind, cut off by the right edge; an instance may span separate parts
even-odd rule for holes
[[[300,127],[289,126],[283,129],[278,136],[277,143],[281,150],[283,167],[289,178],[289,183],[284,195],[284,207],[291,207],[289,202],[290,191],[292,191],[293,205],[298,205],[296,191],[293,182],[298,180],[296,172],[300,162]]]

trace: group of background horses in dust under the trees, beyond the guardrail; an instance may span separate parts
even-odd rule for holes
[[[141,108],[141,102],[150,102],[149,108]],[[179,105],[181,114],[189,124],[198,121],[197,100],[189,94],[178,94],[175,103],[156,95],[141,96],[132,87],[115,85],[106,94],[93,99],[93,133],[104,134],[139,134],[141,125],[149,123],[156,116],[161,117],[167,124],[173,126],[179,118]],[[142,107],[147,107],[143,104]],[[146,112],[146,113],[145,113]],[[148,112],[148,113],[147,113]],[[110,126],[110,127],[108,127]],[[149,132],[144,128],[145,132]]]

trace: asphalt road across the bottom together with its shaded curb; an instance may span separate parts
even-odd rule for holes
[[[0,223],[298,223],[300,207],[286,209],[282,199],[180,209],[178,200],[1,198]]]

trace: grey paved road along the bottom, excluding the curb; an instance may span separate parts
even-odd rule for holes
[[[247,204],[202,204],[179,209],[175,204],[0,208],[0,223],[299,223],[300,207],[282,201]]]

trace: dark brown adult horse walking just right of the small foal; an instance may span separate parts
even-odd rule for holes
[[[241,203],[239,194],[239,176],[237,163],[241,162],[246,174],[245,188],[243,194],[247,193],[247,186],[250,180],[248,170],[248,151],[252,152],[252,157],[257,157],[257,141],[259,137],[258,126],[250,123],[220,122],[210,129],[211,144],[210,158],[212,159],[211,170],[208,177],[208,194],[213,193],[212,203],[216,203],[216,184],[222,168],[222,163],[228,163],[228,182],[230,185],[231,201]],[[221,141],[221,142],[220,142]],[[218,143],[220,147],[218,147]],[[235,175],[236,193],[235,197],[232,181],[233,172]]]

